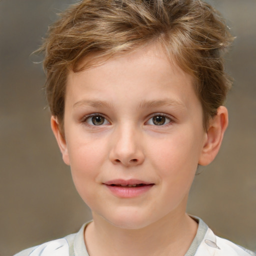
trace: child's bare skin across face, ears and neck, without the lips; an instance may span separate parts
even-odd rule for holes
[[[95,125],[92,115],[102,123]],[[156,125],[156,116],[164,122]],[[75,187],[92,210],[84,235],[90,256],[185,254],[197,228],[185,213],[189,188],[197,165],[217,154],[225,107],[205,131],[192,77],[151,44],[70,71],[65,137],[53,116],[51,126]],[[153,185],[131,198],[105,185],[131,178]]]

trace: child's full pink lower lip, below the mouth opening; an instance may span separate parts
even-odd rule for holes
[[[142,195],[143,193],[147,192],[153,184],[148,184],[144,186],[111,186],[105,185],[115,196],[123,197],[123,198],[131,198]]]

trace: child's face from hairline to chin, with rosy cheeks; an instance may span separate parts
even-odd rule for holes
[[[140,228],[185,212],[206,138],[192,82],[155,45],[69,73],[59,144],[95,218]]]

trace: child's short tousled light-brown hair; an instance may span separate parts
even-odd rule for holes
[[[223,104],[231,86],[222,52],[233,37],[218,12],[201,0],[82,0],[48,29],[44,52],[46,94],[52,115],[63,125],[69,70],[91,53],[109,58],[157,41],[195,77],[203,126]],[[84,67],[86,68],[86,66]]]

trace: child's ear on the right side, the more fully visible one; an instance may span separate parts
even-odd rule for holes
[[[227,109],[224,106],[219,106],[217,114],[209,121],[205,142],[203,144],[198,164],[207,165],[215,158],[220,148],[227,124]]]

